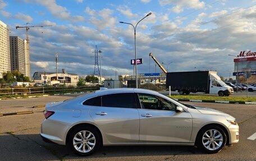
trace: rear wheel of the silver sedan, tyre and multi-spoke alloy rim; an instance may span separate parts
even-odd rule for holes
[[[80,126],[75,128],[68,139],[68,146],[74,153],[88,156],[97,151],[100,147],[100,135],[91,126]]]

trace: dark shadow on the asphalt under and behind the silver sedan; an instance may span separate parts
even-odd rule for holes
[[[56,160],[78,159],[67,146],[44,142],[39,134],[0,134],[1,158],[3,160]],[[104,146],[86,158],[200,155],[194,146]]]

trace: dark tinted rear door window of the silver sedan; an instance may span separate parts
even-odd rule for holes
[[[102,96],[103,107],[137,108],[132,93],[108,94]]]

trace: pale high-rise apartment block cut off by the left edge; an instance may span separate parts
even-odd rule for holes
[[[7,71],[11,71],[9,29],[0,21],[0,78]]]

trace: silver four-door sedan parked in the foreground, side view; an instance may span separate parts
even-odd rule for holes
[[[45,105],[44,141],[90,155],[109,145],[196,145],[218,153],[239,141],[229,114],[185,105],[156,91],[106,89]]]

